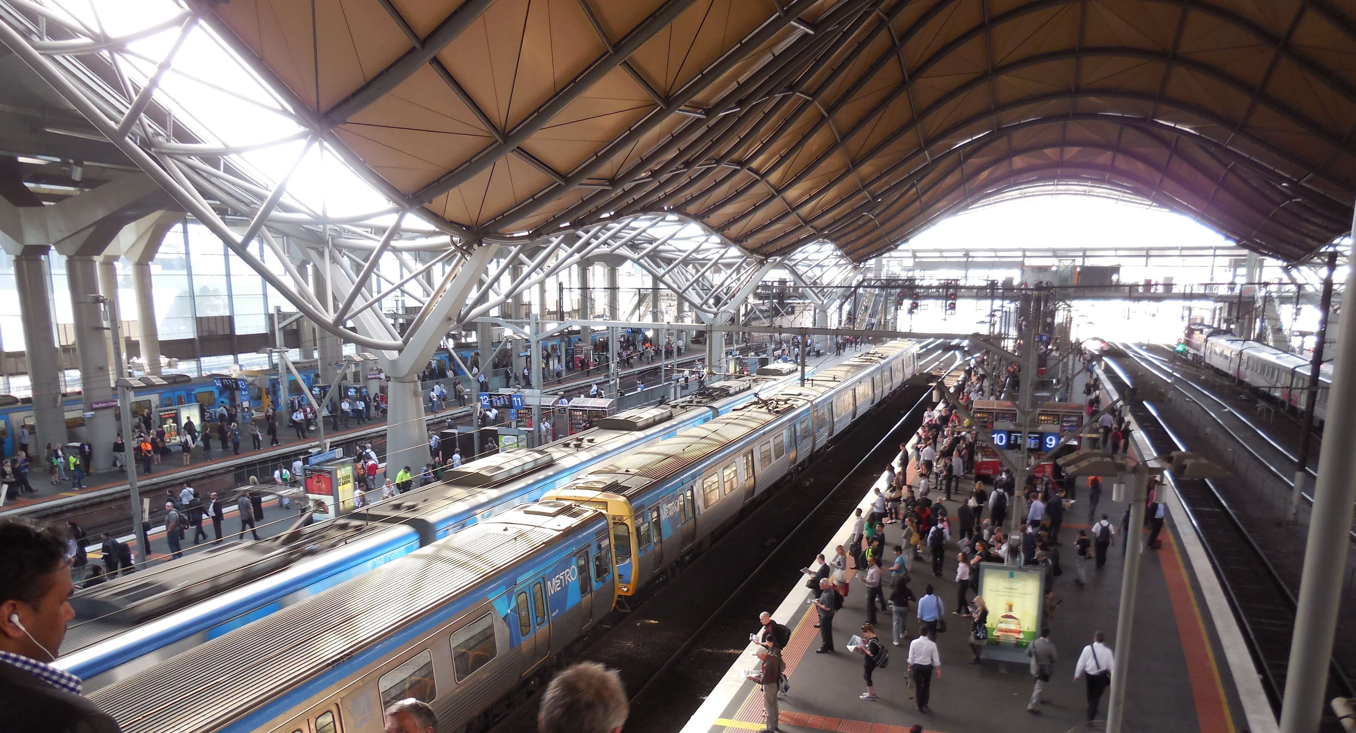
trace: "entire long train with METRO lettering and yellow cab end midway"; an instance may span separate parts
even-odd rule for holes
[[[891,342],[89,695],[127,733],[483,730],[574,642],[917,371]]]

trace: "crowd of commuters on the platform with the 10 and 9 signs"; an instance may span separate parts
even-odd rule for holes
[[[1085,365],[1092,384],[1086,395],[1092,398],[1098,387],[1092,381],[1096,377],[1088,360]],[[1092,527],[1078,529],[1073,542],[1063,524],[1075,500],[1078,481],[1074,476],[1055,470],[1040,475],[1031,471],[1024,485],[1017,486],[1012,471],[1003,468],[991,489],[971,479],[976,436],[970,421],[961,417],[963,409],[995,391],[1014,388],[1008,381],[1010,376],[995,380],[984,366],[983,356],[972,360],[948,399],[925,413],[917,436],[900,445],[906,466],[891,464],[887,468],[869,504],[854,512],[848,542],[835,546],[831,557],[819,555],[803,570],[808,576],[805,586],[811,590],[807,603],[812,605],[814,626],[820,637],[818,654],[842,652],[842,645],[835,646],[834,641],[835,618],[842,615],[852,585],[860,582],[865,588],[865,619],[861,624],[852,624],[853,642],[848,646],[861,656],[862,700],[877,699],[875,675],[888,665],[890,646],[904,646],[904,661],[896,666],[904,666],[913,704],[919,713],[930,713],[930,690],[933,681],[941,677],[942,664],[937,635],[946,631],[948,616],[956,618],[956,624],[965,634],[971,657],[968,664],[982,664],[993,628],[990,614],[1002,614],[1003,609],[990,609],[979,595],[980,566],[999,563],[1037,569],[1044,576],[1041,628],[1025,652],[1033,677],[1026,710],[1040,714],[1041,706],[1048,703],[1045,685],[1060,660],[1051,641],[1051,627],[1062,603],[1055,595],[1055,578],[1063,576],[1062,550],[1074,555],[1071,585],[1079,590],[1088,586],[1089,566],[1097,571],[1105,567],[1117,538],[1121,552],[1125,551],[1130,509],[1125,508],[1119,524],[1113,524],[1105,513],[1098,514],[1102,485],[1096,476],[1085,479],[1086,494],[1082,497],[1089,505],[1088,521]],[[1100,403],[1093,406],[1089,417],[1097,410],[1101,410]],[[1131,426],[1124,415],[1106,410],[1096,425],[1100,432],[1092,438],[1092,445],[1104,452],[1128,449]],[[914,481],[906,479],[910,464],[917,476]],[[974,481],[974,487],[967,490],[963,486],[970,481]],[[1155,494],[1157,486],[1151,485],[1146,516],[1150,529],[1147,547],[1159,547],[1165,519],[1165,505],[1157,501]],[[1016,529],[1009,531],[1009,525]],[[887,533],[894,536],[887,539]],[[932,580],[917,589],[913,573],[926,571],[932,573]],[[955,584],[955,601],[949,608],[941,597],[946,581]],[[888,630],[880,626],[884,614],[890,615]],[[762,685],[766,733],[777,729],[777,699],[789,690],[780,657],[791,641],[791,631],[769,614],[762,615],[759,624],[755,637],[759,666],[750,671],[749,679]],[[1098,714],[1113,666],[1115,652],[1105,643],[1105,634],[1097,631],[1069,672],[1075,683],[1085,685],[1089,721]]]

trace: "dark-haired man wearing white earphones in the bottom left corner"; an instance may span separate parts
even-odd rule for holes
[[[80,696],[80,677],[52,666],[75,590],[65,536],[0,521],[0,710],[7,733],[118,733],[117,721]]]

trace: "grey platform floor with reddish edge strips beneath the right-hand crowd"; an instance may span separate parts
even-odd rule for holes
[[[896,457],[896,468],[904,462],[903,456]],[[909,478],[917,486],[913,470]],[[877,486],[884,486],[884,476]],[[972,479],[967,486],[974,486]],[[1079,588],[1074,582],[1077,571],[1073,543],[1078,529],[1092,525],[1083,494],[1086,483],[1079,482],[1075,502],[1066,513],[1060,531],[1063,573],[1052,582],[1058,607],[1045,620],[1059,661],[1051,681],[1045,684],[1044,698],[1048,703],[1039,706],[1039,714],[1026,711],[1033,687],[1026,664],[987,658],[979,664],[968,664],[972,660],[967,645],[971,622],[952,615],[956,611],[956,550],[955,543],[949,543],[941,577],[933,576],[926,551],[922,561],[911,563],[910,588],[914,595],[921,597],[925,588],[933,585],[946,609],[948,630],[936,639],[941,656],[941,677],[934,677],[932,683],[930,711],[919,713],[913,699],[914,690],[907,684],[909,642],[918,634],[917,604],[910,607],[900,646],[891,645],[891,614],[877,614],[877,634],[890,652],[891,661],[885,669],[876,669],[873,673],[877,699],[862,700],[858,698],[865,692],[862,656],[846,649],[848,641],[858,633],[866,618],[866,592],[861,577],[853,581],[843,608],[835,615],[834,642],[838,652],[833,654],[814,653],[820,645],[819,630],[814,627],[818,619],[807,604],[810,590],[804,588],[804,578],[800,578],[781,605],[773,609],[773,618],[792,628],[792,639],[784,650],[791,692],[780,703],[778,728],[788,733],[904,733],[915,723],[921,723],[925,730],[945,733],[987,730],[995,725],[1014,733],[1101,729],[1111,691],[1101,698],[1097,721],[1089,723],[1085,683],[1074,681],[1073,675],[1082,647],[1092,642],[1098,630],[1106,634],[1106,645],[1117,654],[1127,653],[1116,641],[1125,551],[1120,520],[1127,505],[1111,501],[1108,485],[1097,514],[1106,513],[1111,517],[1117,531],[1116,542],[1102,570],[1096,570],[1089,561],[1088,584]],[[933,494],[936,497],[937,493]],[[968,491],[964,497],[953,494],[953,501],[942,501],[952,517],[956,516],[961,498],[968,498]],[[872,494],[868,493],[860,506],[865,510],[871,500]],[[1181,519],[1184,513],[1174,504],[1174,497],[1169,497],[1168,504],[1170,519],[1161,535],[1162,547],[1143,551],[1134,638],[1128,650],[1125,730],[1275,732],[1275,719],[1234,619],[1230,616],[1227,623],[1216,624],[1212,616],[1216,604],[1205,603],[1220,600],[1223,595],[1214,570],[1204,563],[1200,540]],[[845,519],[834,540],[826,546],[826,557],[833,557],[833,547],[846,542],[850,532],[852,520]],[[1142,532],[1146,531],[1136,535]],[[892,558],[888,548],[899,543],[900,528],[898,524],[887,524],[885,533],[885,555]],[[1143,538],[1136,539],[1142,544]],[[888,580],[885,582],[888,586]],[[888,588],[885,593],[888,596]],[[1224,609],[1227,612],[1227,605]],[[739,661],[682,728],[682,733],[765,729],[762,691],[744,679],[746,671],[758,666],[754,650],[751,643],[744,649]]]

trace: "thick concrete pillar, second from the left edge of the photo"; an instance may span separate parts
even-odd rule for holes
[[[68,257],[71,309],[75,315],[76,350],[80,353],[81,403],[85,413],[85,440],[94,448],[94,468],[113,466],[113,440],[118,434],[115,410],[95,410],[94,403],[114,399],[108,358],[108,339],[103,323],[99,293],[99,265],[92,257]]]

